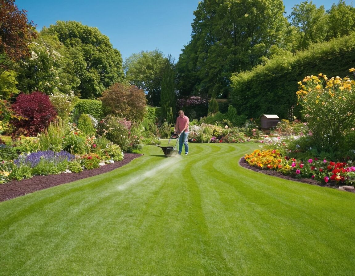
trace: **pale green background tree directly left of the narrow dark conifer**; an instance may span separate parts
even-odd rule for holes
[[[164,55],[158,49],[133,54],[125,61],[127,81],[147,93],[149,105],[159,106],[164,66]]]

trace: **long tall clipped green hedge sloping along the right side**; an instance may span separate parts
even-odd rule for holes
[[[297,82],[305,76],[326,74],[347,76],[355,66],[355,33],[314,44],[310,49],[292,55],[276,56],[266,65],[231,77],[231,103],[238,114],[258,118],[262,114],[277,114],[288,118],[290,108],[299,117],[296,106]]]

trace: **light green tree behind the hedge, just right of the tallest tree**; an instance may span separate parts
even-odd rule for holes
[[[327,15],[324,6],[317,8],[312,1],[301,2],[292,8],[288,18],[298,31],[299,43],[295,45],[295,50],[305,50],[311,43],[322,42],[325,39]]]

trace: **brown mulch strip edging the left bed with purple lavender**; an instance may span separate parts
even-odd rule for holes
[[[39,191],[42,189],[54,187],[60,184],[73,182],[83,178],[99,175],[101,173],[109,172],[119,167],[122,167],[133,159],[142,154],[125,153],[122,161],[100,166],[92,170],[83,170],[78,173],[61,173],[60,175],[36,175],[30,179],[23,179],[21,181],[10,181],[0,184],[0,202],[20,197],[22,195]]]

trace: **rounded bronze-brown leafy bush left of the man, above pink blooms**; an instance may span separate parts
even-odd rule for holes
[[[143,120],[147,99],[142,89],[135,85],[113,84],[102,93],[104,115],[114,115],[133,122]]]

